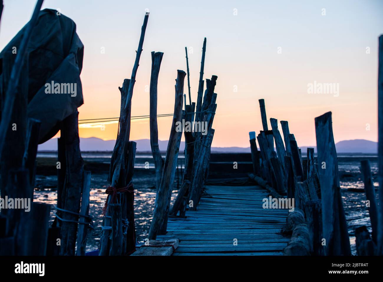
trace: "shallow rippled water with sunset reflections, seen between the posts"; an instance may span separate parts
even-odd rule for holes
[[[144,161],[151,157],[150,155],[143,155],[142,158],[136,159],[135,167],[143,167]],[[83,154],[84,158],[87,158],[86,154]],[[183,157],[183,156],[182,156]],[[94,156],[93,156],[94,158]],[[110,158],[103,158],[98,156],[102,162],[110,162]],[[94,159],[93,159],[94,160]],[[370,217],[368,215],[367,207],[365,206],[365,194],[363,192],[363,181],[359,172],[360,160],[352,160],[347,158],[347,161],[343,161],[339,158],[339,172],[342,181],[340,186],[342,188],[342,200],[349,228],[350,243],[352,247],[352,253],[355,251],[355,228],[365,225],[371,231]],[[376,160],[371,161],[371,170],[373,179],[376,181],[376,173],[378,171]],[[91,179],[91,191],[90,191],[90,214],[93,216],[94,229],[92,230],[89,239],[87,240],[87,251],[93,251],[98,249],[98,243],[101,236],[101,222],[102,222],[102,207],[103,202],[106,200],[105,189],[109,183],[106,180],[108,175],[92,174]],[[134,219],[136,225],[136,237],[137,241],[142,241],[146,238],[152,215],[154,211],[155,200],[155,173],[154,170],[148,170],[147,173],[140,174],[139,176],[133,176],[134,183]],[[375,186],[378,183],[374,183]],[[57,201],[57,177],[56,176],[43,176],[36,175],[36,190],[34,198],[36,201],[52,204],[51,210],[51,223],[54,219],[54,212],[56,209]],[[177,181],[175,180],[175,187],[177,187]],[[348,191],[348,188],[360,189],[363,193]],[[177,190],[172,193],[172,201],[177,196]]]

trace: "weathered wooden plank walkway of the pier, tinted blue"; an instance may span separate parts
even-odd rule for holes
[[[206,186],[197,210],[169,218],[157,240],[180,239],[174,256],[283,255],[290,238],[278,233],[288,211],[262,208],[264,198],[259,186]]]

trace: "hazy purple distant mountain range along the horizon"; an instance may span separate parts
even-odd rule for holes
[[[90,138],[80,138],[80,149],[83,152],[86,151],[113,151],[115,147],[115,140],[102,140],[96,137]],[[150,152],[150,140],[149,139],[139,139],[135,140],[137,143],[137,152]],[[167,149],[167,141],[158,141],[160,151],[165,152]],[[302,152],[306,152],[306,148],[310,146],[302,146]],[[316,152],[316,147],[314,151]],[[185,148],[185,142],[181,142],[180,151],[183,151]],[[50,139],[47,142],[40,144],[38,147],[39,151],[57,151],[57,139]],[[364,139],[355,139],[355,140],[344,140],[336,143],[337,153],[377,153],[378,152],[378,143],[364,140]],[[250,147],[211,147],[212,152],[217,153],[249,153]]]

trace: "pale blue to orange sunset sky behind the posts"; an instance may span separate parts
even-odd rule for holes
[[[34,0],[4,0],[2,49],[28,22]],[[377,141],[378,36],[383,1],[125,1],[45,0],[77,25],[84,48],[79,119],[118,117],[123,79],[131,77],[141,26],[149,12],[132,99],[132,116],[149,114],[151,51],[164,52],[158,114],[172,114],[177,69],[196,101],[201,50],[204,79],[218,76],[213,147],[249,147],[249,131],[267,118],[288,120],[298,145],[316,145],[314,118],[332,112],[335,142]],[[105,52],[101,52],[104,50]],[[321,93],[323,85],[333,85]],[[315,85],[317,91],[310,91]],[[187,93],[185,79],[184,92]],[[169,139],[172,117],[158,118]],[[269,129],[270,122],[268,121]],[[116,138],[117,123],[81,124],[80,137]],[[132,120],[131,140],[149,139],[149,119]]]

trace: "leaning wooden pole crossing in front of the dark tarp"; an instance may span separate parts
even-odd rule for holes
[[[43,5],[43,2],[44,0],[38,0],[36,3],[36,6],[34,7],[32,18],[25,29],[23,38],[21,39],[20,45],[18,47],[18,52],[16,54],[15,63],[13,64],[12,71],[10,74],[10,80],[8,82],[7,92],[5,94],[5,102],[4,102],[3,112],[2,112],[1,123],[0,123],[0,158],[3,152],[6,132],[11,122],[12,109],[13,109],[13,104],[15,103],[15,97],[16,97],[15,91],[19,84],[20,73],[21,73],[21,70],[23,69],[23,64],[25,61],[24,58],[28,50],[28,43],[29,43],[29,40],[31,39],[33,28],[36,25],[36,22],[38,20],[39,12],[40,12],[41,6]]]

